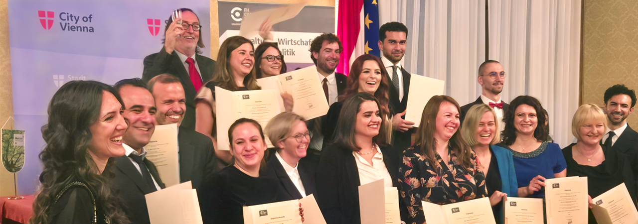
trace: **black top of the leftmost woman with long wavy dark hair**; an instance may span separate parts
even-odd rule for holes
[[[46,224],[111,223],[96,196],[87,185],[80,181],[66,185],[57,194],[53,206],[49,208],[50,221]]]

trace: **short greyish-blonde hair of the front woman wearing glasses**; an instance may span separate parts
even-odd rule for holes
[[[272,145],[279,148],[277,143],[288,137],[290,129],[292,129],[297,121],[306,122],[306,119],[296,113],[283,112],[271,118],[264,132],[266,136],[268,136],[268,139],[271,140]]]

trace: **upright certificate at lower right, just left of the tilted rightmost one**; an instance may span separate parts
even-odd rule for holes
[[[587,223],[587,177],[545,180],[545,213],[548,224]]]

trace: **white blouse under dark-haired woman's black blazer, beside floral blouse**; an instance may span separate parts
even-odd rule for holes
[[[365,158],[361,157],[356,151],[352,152],[357,162],[357,170],[359,171],[359,182],[361,185],[383,179],[383,186],[392,187],[392,177],[383,162],[383,153],[379,146],[375,145],[376,153],[372,157],[372,164],[369,164]]]

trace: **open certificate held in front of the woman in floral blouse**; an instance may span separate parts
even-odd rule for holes
[[[412,81],[412,80],[410,80]],[[422,201],[426,223],[494,224],[494,213],[489,198],[466,200],[440,206]]]

